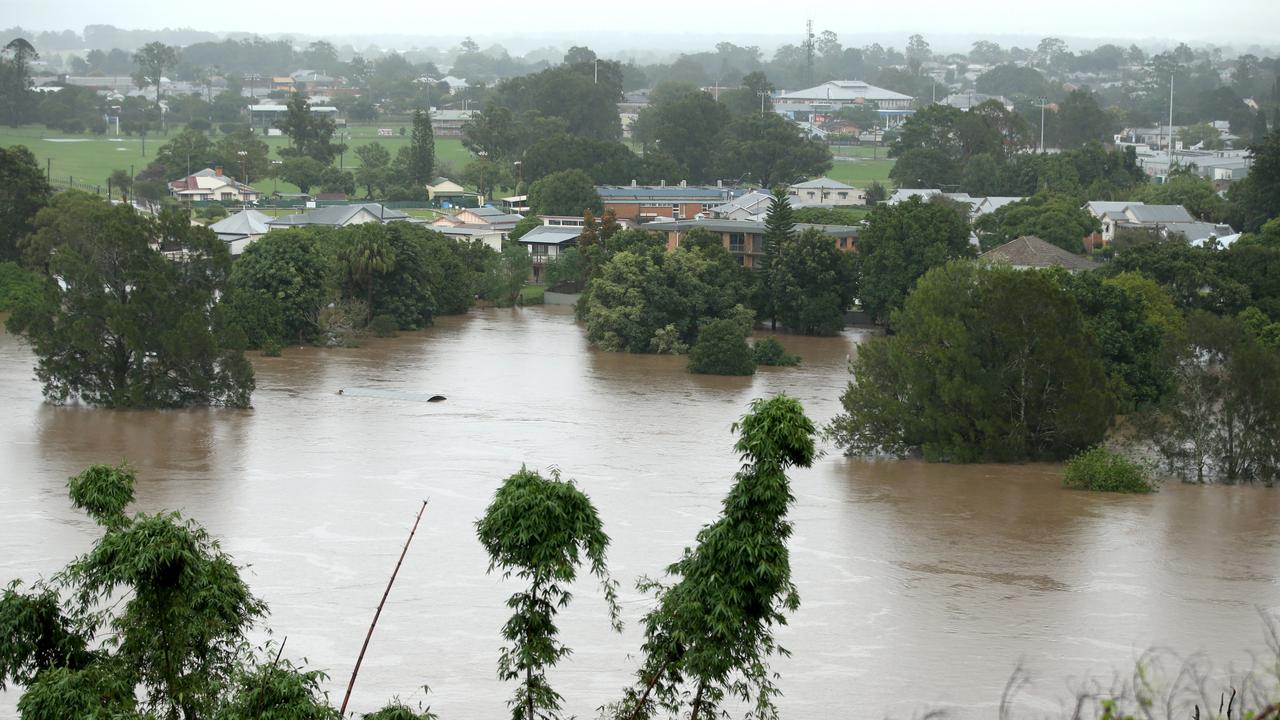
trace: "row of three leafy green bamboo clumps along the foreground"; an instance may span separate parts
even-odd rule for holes
[[[762,717],[777,715],[769,660],[785,650],[774,630],[800,602],[787,551],[795,500],[787,471],[813,462],[815,428],[786,396],[754,401],[733,428],[742,469],[721,516],[660,579],[637,582],[654,597],[643,619],[640,669],[605,716],[712,717],[728,698]],[[0,688],[22,685],[22,716],[337,720],[320,689],[323,673],[280,659],[283,648],[251,648],[268,609],[241,568],[193,520],[129,514],[134,483],[127,465],[95,465],[72,478],[72,503],[97,523],[100,537],[54,579],[14,582],[0,593]],[[547,478],[521,469],[494,493],[476,536],[490,571],[525,583],[507,602],[508,644],[498,659],[499,678],[516,683],[511,715],[559,717],[563,698],[547,674],[571,652],[556,618],[584,564],[603,584],[613,628],[622,629],[599,512],[557,471]],[[104,632],[109,639],[100,642]],[[435,715],[392,702],[364,717]]]

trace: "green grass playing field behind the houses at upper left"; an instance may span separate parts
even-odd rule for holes
[[[342,159],[342,165],[348,169],[360,167],[360,160],[351,150],[369,142],[384,145],[394,156],[401,147],[408,145],[408,135],[399,135],[403,123],[379,123],[372,126],[355,126],[339,131],[346,133],[343,142],[348,147],[346,156]],[[378,128],[388,127],[396,135],[392,137],[379,137]],[[175,135],[177,132],[178,128],[170,129],[170,135]],[[276,156],[275,154],[279,149],[288,146],[289,142],[283,136],[265,137],[262,140],[271,149],[273,158]],[[111,170],[128,170],[132,167],[134,173],[142,172],[142,168],[155,159],[156,150],[165,142],[165,136],[148,135],[146,138],[146,155],[143,155],[143,141],[138,137],[109,137],[88,133],[65,135],[47,129],[44,126],[0,127],[0,147],[26,145],[36,155],[40,165],[47,168],[55,181],[67,182],[68,178],[74,178],[77,183],[101,184],[104,190],[106,188],[106,178],[111,174]],[[462,147],[462,141],[456,137],[436,138],[435,156],[439,163],[444,164],[444,169],[451,173],[462,170],[472,158],[471,151]],[[196,170],[200,168],[192,169]],[[252,184],[268,193],[275,190],[280,192],[297,192],[298,190],[289,183],[271,181],[270,178],[253,181]]]

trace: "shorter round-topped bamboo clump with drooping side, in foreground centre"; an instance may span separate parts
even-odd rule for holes
[[[566,585],[577,577],[584,556],[604,588],[613,629],[622,630],[600,516],[572,480],[561,480],[558,470],[543,478],[521,468],[498,488],[476,523],[476,536],[489,552],[489,571],[502,568],[503,578],[529,582],[527,589],[507,600],[515,612],[502,637],[511,644],[498,657],[498,678],[520,682],[509,701],[511,716],[559,717],[563,698],[547,682],[547,670],[572,652],[557,637],[556,614],[572,600]]]

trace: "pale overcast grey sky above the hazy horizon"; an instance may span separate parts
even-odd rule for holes
[[[803,36],[815,29],[841,35],[920,32],[938,36],[1059,36],[1172,38],[1244,47],[1280,42],[1280,0],[902,0],[878,3],[780,3],[777,0],[485,0],[483,3],[392,0],[255,0],[178,3],[166,0],[0,0],[0,26],[82,29],[192,27],[206,31],[328,35],[421,35],[502,37],[550,32],[586,44],[626,45],[628,33]],[[621,36],[621,37],[620,37]],[[608,37],[609,41],[604,42]],[[934,42],[934,45],[942,45]],[[700,47],[699,47],[700,49]]]

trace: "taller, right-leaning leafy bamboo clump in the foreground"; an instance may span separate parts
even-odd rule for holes
[[[800,402],[778,395],[751,401],[733,429],[742,469],[721,516],[667,568],[669,584],[639,583],[657,606],[645,615],[637,682],[616,706],[620,717],[714,717],[730,694],[753,717],[777,717],[768,660],[787,651],[773,632],[800,606],[786,546],[795,500],[786,473],[813,464],[814,427]]]

